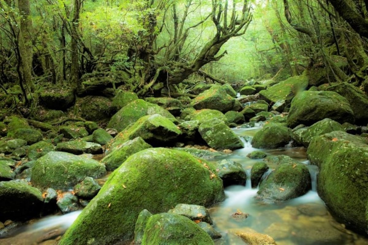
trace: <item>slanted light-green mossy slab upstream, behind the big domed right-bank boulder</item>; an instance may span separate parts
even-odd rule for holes
[[[289,103],[293,97],[300,91],[307,89],[308,77],[305,74],[296,77],[290,77],[278,84],[268,87],[259,92],[267,102],[277,102],[285,100]]]

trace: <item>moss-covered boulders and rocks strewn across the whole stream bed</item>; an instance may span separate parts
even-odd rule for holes
[[[224,186],[245,184],[249,176],[240,164],[227,160],[210,163],[205,159],[244,147],[244,139],[230,127],[263,122],[264,127],[251,139],[252,146],[308,147],[309,160],[320,168],[321,198],[347,224],[367,227],[364,187],[368,175],[364,163],[368,158],[364,156],[368,148],[362,136],[368,132],[364,125],[368,98],[346,83],[327,90],[306,88],[308,78],[303,74],[277,84],[267,81],[246,85],[240,93],[247,96],[239,98],[229,84],[198,89],[195,99],[143,100],[123,91],[112,100],[85,96],[88,103],[83,103],[82,115],[90,120],[111,117],[107,129],[84,120],[64,124],[4,118],[0,123],[0,134],[4,136],[0,141],[0,198],[5,200],[0,203],[1,219],[25,220],[57,208],[70,212],[86,206],[60,244],[111,244],[134,236],[142,244],[159,241],[164,235],[161,231],[172,228],[167,227],[169,224],[186,227],[190,221],[162,212],[178,203],[208,207],[224,199]],[[45,104],[47,98],[43,98]],[[64,107],[40,114],[55,118],[47,115],[57,115],[55,109]],[[97,111],[105,114],[99,117]],[[112,111],[116,113],[112,115]],[[206,147],[183,147],[195,144]],[[101,153],[102,160],[91,159],[91,154]],[[351,157],[355,155],[359,157]],[[266,157],[259,151],[249,157],[264,158],[251,170],[252,186],[259,185],[257,198],[263,202],[295,198],[311,188],[305,164],[287,156]],[[100,188],[95,179],[105,175],[106,170],[114,172]],[[262,179],[265,173],[269,175]],[[332,184],[335,182],[339,185]],[[352,196],[352,192],[357,195]],[[358,204],[354,198],[363,202]],[[360,206],[354,209],[353,205]],[[355,215],[351,210],[359,212]],[[164,227],[152,227],[158,221]],[[180,229],[170,232],[183,239],[212,242],[194,225],[188,224],[193,227],[192,233]]]

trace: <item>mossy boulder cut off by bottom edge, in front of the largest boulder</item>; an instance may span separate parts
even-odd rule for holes
[[[196,223],[179,214],[159,213],[137,224],[144,228],[141,245],[211,245],[212,238]],[[135,243],[136,244],[136,243]]]

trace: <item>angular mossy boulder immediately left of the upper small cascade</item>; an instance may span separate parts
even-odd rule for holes
[[[244,147],[241,139],[218,119],[205,121],[198,128],[199,134],[215,150],[235,150]]]

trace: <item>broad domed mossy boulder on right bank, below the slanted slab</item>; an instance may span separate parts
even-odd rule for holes
[[[304,91],[291,102],[287,125],[290,128],[298,124],[312,125],[324,118],[338,123],[354,123],[354,113],[349,102],[332,91]]]

